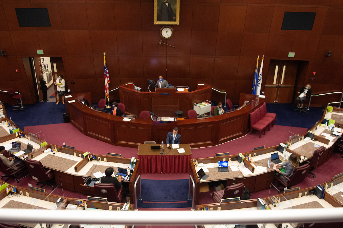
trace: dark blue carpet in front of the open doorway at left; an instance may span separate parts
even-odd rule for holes
[[[64,123],[62,113],[66,112],[66,105],[56,105],[55,102],[39,102],[35,105],[24,105],[25,111],[11,112],[12,106],[5,106],[7,117],[12,118],[20,128],[45,124]]]

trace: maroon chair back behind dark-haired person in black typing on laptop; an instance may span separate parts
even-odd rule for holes
[[[121,187],[118,192],[114,184],[94,184],[95,196],[107,198],[107,201],[121,203],[124,196],[123,187]]]

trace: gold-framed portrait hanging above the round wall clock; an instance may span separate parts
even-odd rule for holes
[[[155,25],[179,25],[180,0],[154,0]]]

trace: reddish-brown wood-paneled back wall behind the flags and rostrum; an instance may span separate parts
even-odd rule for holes
[[[48,8],[51,27],[19,27],[15,8]],[[285,11],[316,12],[313,29],[281,30]],[[89,91],[92,102],[104,97],[103,52],[110,89],[131,82],[146,90],[147,79],[162,75],[190,90],[198,83],[213,86],[238,103],[240,93],[252,92],[257,55],[265,56],[266,75],[270,59],[295,52],[294,60],[309,61],[298,86],[310,83],[314,94],[343,91],[342,0],[180,0],[180,25],[163,40],[176,48],[158,45],[162,25],[154,25],[153,13],[153,0],[2,0],[0,49],[7,56],[0,56],[0,89],[21,89],[23,102],[32,104],[32,76],[25,74],[22,57],[37,57],[43,49],[44,56],[62,57],[71,92]],[[265,78],[262,88],[264,83]],[[224,100],[216,92],[212,97]],[[118,99],[118,93],[110,98]],[[5,93],[0,99],[11,101]]]

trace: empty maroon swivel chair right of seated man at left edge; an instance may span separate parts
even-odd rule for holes
[[[51,186],[51,189],[54,190],[54,185],[52,185],[52,183],[55,182],[54,171],[45,170],[40,161],[35,161],[28,158],[25,159],[25,164],[31,175],[38,178],[36,185],[43,184],[39,188],[49,185]]]

